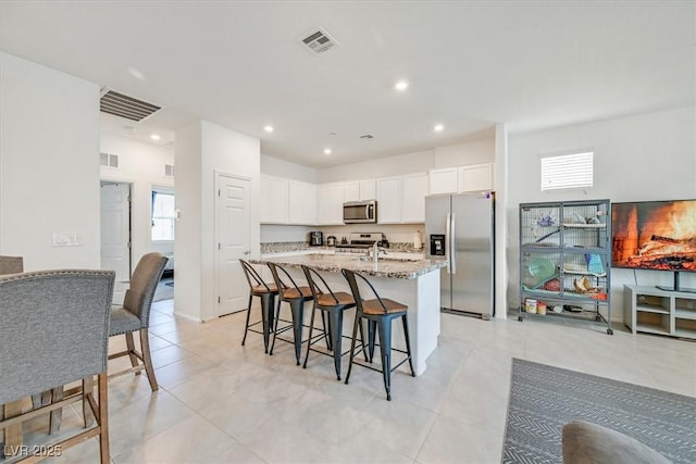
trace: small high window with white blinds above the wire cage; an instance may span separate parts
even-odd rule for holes
[[[542,158],[542,191],[593,185],[592,151]]]

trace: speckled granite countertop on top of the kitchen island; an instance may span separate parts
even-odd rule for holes
[[[445,260],[418,260],[381,258],[375,264],[373,261],[361,261],[359,255],[344,254],[303,254],[295,256],[261,258],[249,260],[253,264],[266,264],[273,262],[282,266],[300,268],[302,264],[316,271],[339,273],[341,268],[359,272],[375,277],[388,277],[397,279],[413,279],[432,273],[447,265]]]

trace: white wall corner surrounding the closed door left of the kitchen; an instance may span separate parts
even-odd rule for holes
[[[176,133],[177,222],[175,313],[207,321],[215,316],[215,173],[250,180],[251,255],[260,255],[260,141],[201,121]],[[183,290],[182,290],[183,289]]]

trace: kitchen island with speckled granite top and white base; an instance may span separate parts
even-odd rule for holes
[[[306,279],[301,269],[304,264],[312,267],[326,279],[334,291],[350,292],[348,283],[340,274],[341,268],[361,273],[370,279],[382,298],[390,298],[409,306],[409,331],[411,338],[411,355],[415,375],[425,372],[427,356],[437,347],[439,336],[439,269],[447,263],[444,260],[406,260],[381,258],[376,263],[363,261],[357,255],[340,254],[304,254],[295,256],[266,256],[261,260],[250,260],[253,264],[273,262],[279,264],[293,274],[298,285],[304,285]],[[300,284],[302,283],[302,284]],[[363,289],[362,297],[374,298]],[[306,305],[306,311],[311,309]],[[355,310],[344,319],[344,335],[352,334]],[[402,331],[393,331],[395,348],[405,349]],[[400,368],[405,368],[401,366]]]

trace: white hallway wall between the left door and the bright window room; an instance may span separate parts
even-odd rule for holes
[[[151,191],[153,186],[174,187],[174,179],[164,175],[164,165],[174,164],[174,149],[102,131],[100,150],[119,155],[117,168],[100,167],[101,179],[133,185],[130,201],[133,268],[145,253],[173,252],[174,242],[152,243]]]

